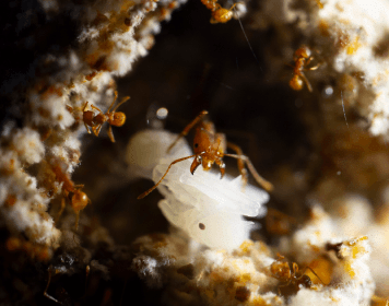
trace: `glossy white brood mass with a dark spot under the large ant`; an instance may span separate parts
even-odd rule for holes
[[[144,136],[148,137],[148,148],[153,152],[153,156],[163,155],[164,152],[156,151],[167,148],[177,137],[164,131],[152,133],[153,131],[149,131]],[[161,158],[153,170],[154,183],[161,179],[174,160],[192,154],[184,140],[176,146],[180,146],[180,153],[186,154],[177,156],[177,152],[174,151]],[[143,156],[148,155],[144,148],[142,149]],[[132,160],[132,163],[134,162]],[[247,186],[243,192],[240,176],[232,178],[226,175],[220,179],[220,173],[205,172],[202,167],[199,167],[192,175],[190,173],[191,162],[187,160],[173,165],[157,187],[165,197],[158,202],[160,209],[169,223],[200,244],[226,250],[239,247],[245,239],[249,238],[250,231],[255,227],[255,224],[246,221],[243,215],[264,215],[263,203],[268,201],[269,195],[254,186]],[[155,164],[156,161],[151,161],[151,163]],[[143,165],[143,167],[149,172],[148,166]]]

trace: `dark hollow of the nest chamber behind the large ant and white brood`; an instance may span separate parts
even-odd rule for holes
[[[166,107],[165,128],[177,133],[201,110],[209,110],[216,130],[240,145],[258,172],[275,185],[280,165],[293,170],[307,166],[310,145],[300,110],[310,107],[309,99],[297,101],[287,85],[290,74],[275,82],[268,80],[272,67],[264,62],[261,50],[272,39],[272,31],[251,31],[250,20],[241,21],[251,52],[238,21],[209,21],[210,11],[200,1],[189,1],[175,11],[172,21],[163,23],[149,56],[118,80],[119,95],[131,99],[120,107],[127,121],[121,128],[114,127],[117,142],[111,143],[104,130],[93,141],[85,136],[82,164],[73,178],[85,183],[91,197],[93,208],[85,213],[104,216],[103,225],[119,244],[165,232],[168,226],[156,207],[158,192],[137,200],[152,181],[129,183],[123,172],[127,142],[134,132],[150,128],[150,107]],[[285,71],[292,73],[288,68]],[[238,175],[236,161],[225,162],[227,172]],[[282,199],[274,204],[286,205]]]

